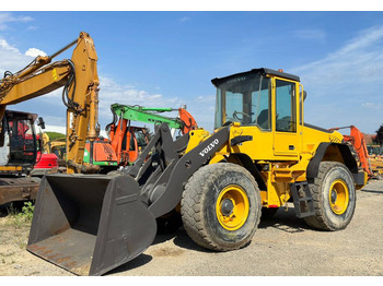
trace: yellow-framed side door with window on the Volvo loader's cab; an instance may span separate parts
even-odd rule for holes
[[[274,154],[298,156],[301,142],[297,132],[298,84],[275,78],[272,81],[274,98]]]

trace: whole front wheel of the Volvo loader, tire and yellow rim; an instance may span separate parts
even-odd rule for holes
[[[199,246],[217,251],[245,247],[259,224],[258,186],[241,166],[204,166],[185,186],[181,214],[186,233]]]

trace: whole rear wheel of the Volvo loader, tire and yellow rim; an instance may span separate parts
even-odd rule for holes
[[[341,163],[322,162],[317,177],[309,186],[315,215],[305,217],[305,223],[325,230],[346,228],[353,216],[357,200],[348,168]]]

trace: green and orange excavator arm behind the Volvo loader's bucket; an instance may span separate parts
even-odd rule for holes
[[[131,126],[132,121],[154,124],[154,129],[162,123],[167,123],[172,130],[172,136],[176,130],[181,134],[186,134],[198,128],[194,117],[186,110],[186,106],[156,108],[113,104],[111,110],[113,121],[106,126],[105,130],[117,154],[119,166],[132,164],[149,143],[149,130]],[[177,117],[171,118],[162,115],[171,111],[178,111]]]

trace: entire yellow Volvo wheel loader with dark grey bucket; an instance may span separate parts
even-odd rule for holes
[[[290,202],[312,227],[346,228],[367,172],[339,132],[304,123],[300,78],[262,68],[212,83],[213,133],[199,128],[173,140],[162,123],[113,175],[45,176],[27,250],[78,275],[102,275],[142,253],[155,218],[177,211],[188,236],[216,251],[245,247],[262,207]]]

